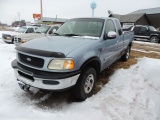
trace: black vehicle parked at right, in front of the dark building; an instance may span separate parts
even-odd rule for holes
[[[157,31],[153,26],[136,25],[129,29],[134,31],[135,40],[150,41],[152,43],[160,42],[160,31]],[[127,29],[125,31],[127,31]]]

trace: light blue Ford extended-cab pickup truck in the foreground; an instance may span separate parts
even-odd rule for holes
[[[74,18],[53,36],[17,46],[12,61],[21,89],[61,91],[72,87],[80,100],[92,96],[100,73],[130,56],[133,32],[123,34],[116,18]]]

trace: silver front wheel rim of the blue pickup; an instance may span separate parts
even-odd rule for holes
[[[94,85],[94,76],[92,74],[88,75],[84,84],[85,93],[90,93]]]

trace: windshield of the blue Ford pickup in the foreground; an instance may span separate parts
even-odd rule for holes
[[[56,33],[64,36],[100,37],[103,23],[103,19],[97,18],[72,19],[64,23]]]

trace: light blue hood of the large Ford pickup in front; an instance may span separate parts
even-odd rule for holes
[[[67,56],[67,54],[77,49],[78,47],[93,41],[95,40],[64,36],[46,36],[33,39],[26,42],[25,44],[21,44],[21,46],[50,52],[61,52]]]

